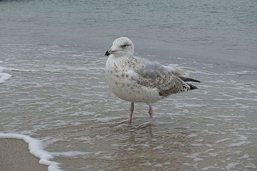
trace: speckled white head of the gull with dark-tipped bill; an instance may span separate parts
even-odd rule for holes
[[[115,57],[121,56],[133,56],[134,55],[134,44],[126,37],[117,38],[113,42],[113,46],[105,52],[105,56],[114,55]]]

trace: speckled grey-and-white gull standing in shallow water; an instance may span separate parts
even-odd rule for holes
[[[196,89],[186,82],[200,82],[183,77],[186,72],[175,66],[164,66],[134,56],[134,43],[126,37],[117,38],[105,52],[105,77],[113,93],[131,102],[129,123],[132,122],[134,103],[149,106],[150,124],[153,124],[152,105],[171,94]]]

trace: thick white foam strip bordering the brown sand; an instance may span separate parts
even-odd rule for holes
[[[59,163],[49,161],[53,158],[53,156],[46,150],[43,150],[41,140],[31,138],[28,135],[14,133],[0,133],[0,138],[15,138],[24,140],[28,144],[29,152],[34,156],[40,158],[39,163],[42,165],[47,165],[48,171],[63,171],[59,169]]]

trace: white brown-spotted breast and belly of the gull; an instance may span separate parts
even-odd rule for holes
[[[149,105],[161,99],[157,88],[137,83],[138,74],[130,68],[127,57],[111,55],[105,65],[105,77],[113,93],[125,101]]]

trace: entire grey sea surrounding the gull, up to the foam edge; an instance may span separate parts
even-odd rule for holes
[[[257,1],[0,1],[0,132],[43,141],[64,171],[254,171]],[[199,89],[118,99],[103,53],[177,64]]]

